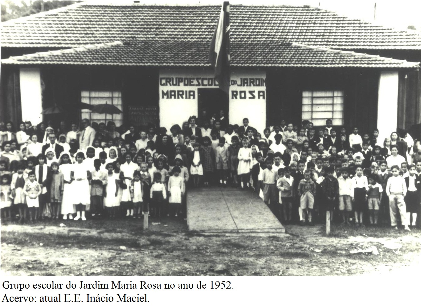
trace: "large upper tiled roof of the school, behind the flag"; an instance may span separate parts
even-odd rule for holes
[[[141,40],[210,42],[220,5],[78,3],[1,24],[4,47],[69,48]],[[301,43],[336,49],[421,50],[421,35],[309,6],[231,5],[231,41]]]

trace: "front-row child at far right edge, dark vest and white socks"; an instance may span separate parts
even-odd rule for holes
[[[415,165],[408,166],[408,173],[409,175],[405,178],[406,188],[408,189],[405,196],[406,218],[409,224],[412,216],[411,226],[415,227],[417,212],[420,210],[421,178],[416,173]]]

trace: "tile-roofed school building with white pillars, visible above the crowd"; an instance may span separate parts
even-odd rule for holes
[[[390,132],[421,122],[421,35],[309,6],[231,5],[229,93],[208,59],[221,5],[77,3],[2,23],[1,119],[169,129],[224,109],[260,132],[286,119]],[[122,114],[43,109],[84,102]]]

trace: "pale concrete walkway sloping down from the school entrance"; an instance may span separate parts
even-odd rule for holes
[[[207,187],[187,192],[190,231],[285,233],[285,228],[256,193]]]

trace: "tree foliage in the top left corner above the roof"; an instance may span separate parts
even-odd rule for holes
[[[2,1],[1,21],[50,11],[81,1]]]

